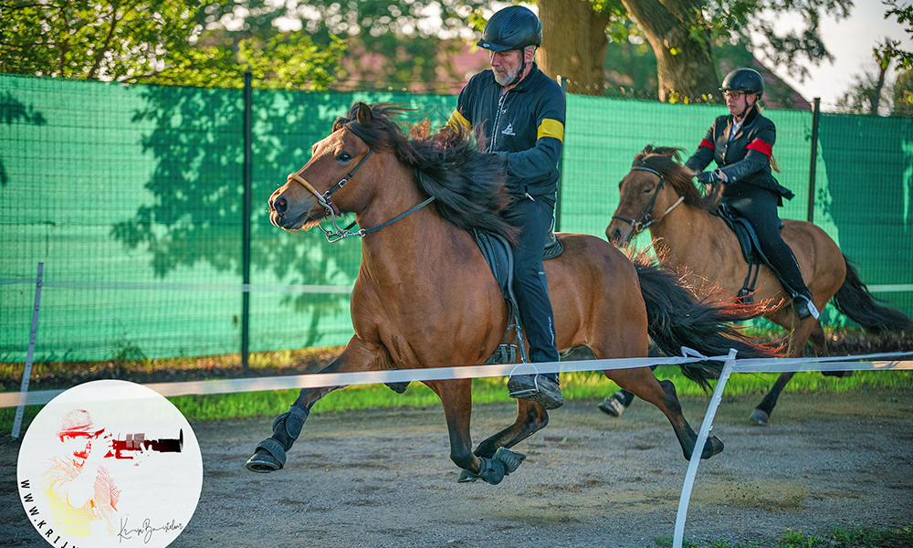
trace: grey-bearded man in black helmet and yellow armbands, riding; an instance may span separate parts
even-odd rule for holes
[[[554,218],[565,106],[561,87],[533,61],[541,44],[542,24],[529,9],[511,5],[491,16],[478,40],[491,69],[469,79],[447,125],[475,129],[504,164],[514,198],[504,215],[521,228],[512,246],[513,290],[530,362],[558,362],[542,252]],[[516,375],[508,390],[546,409],[564,404],[558,374]]]

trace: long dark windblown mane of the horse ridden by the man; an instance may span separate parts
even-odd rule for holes
[[[518,229],[500,216],[510,200],[504,166],[494,154],[478,152],[470,132],[448,127],[432,134],[424,121],[410,126],[406,134],[393,119],[414,109],[375,103],[370,105],[372,120],[359,121],[360,104],[336,119],[333,132],[347,128],[375,151],[394,153],[400,163],[412,168],[419,189],[435,197],[437,211],[447,222],[516,240]]]

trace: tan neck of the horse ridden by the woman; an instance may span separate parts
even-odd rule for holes
[[[650,226],[650,235],[658,238],[656,247],[665,254],[665,262],[703,270],[712,266],[705,264],[711,257],[708,249],[716,245],[714,237],[719,237],[713,219],[707,211],[682,203]]]

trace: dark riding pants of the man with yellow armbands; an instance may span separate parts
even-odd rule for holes
[[[504,217],[511,225],[520,227],[518,242],[513,248],[513,290],[519,320],[526,332],[526,341],[530,343],[530,362],[557,362],[559,355],[555,347],[549,282],[542,268],[542,251],[554,217],[554,205],[542,196],[535,201],[524,198],[510,205]],[[557,375],[548,376],[557,378]]]

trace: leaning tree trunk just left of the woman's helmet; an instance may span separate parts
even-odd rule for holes
[[[659,77],[659,100],[719,102],[719,79],[710,53],[710,37],[704,43],[689,36],[691,17],[699,13],[693,0],[622,0],[653,47]],[[541,2],[540,2],[541,5]],[[694,21],[698,23],[698,21]],[[712,99],[710,99],[712,97]]]

